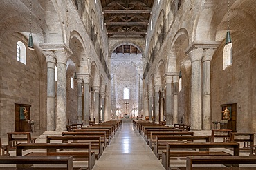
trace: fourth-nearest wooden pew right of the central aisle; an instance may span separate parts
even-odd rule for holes
[[[153,149],[152,144],[156,142],[156,136],[194,136],[192,131],[152,131],[149,133],[150,138],[148,139],[149,147]]]

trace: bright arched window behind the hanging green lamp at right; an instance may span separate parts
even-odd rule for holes
[[[232,43],[225,45],[223,49],[223,70],[233,63],[233,47]]]

